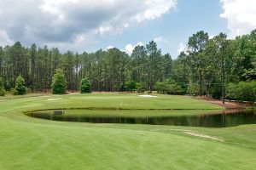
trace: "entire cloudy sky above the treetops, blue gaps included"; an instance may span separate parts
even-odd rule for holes
[[[61,52],[120,48],[151,40],[177,54],[196,31],[229,37],[256,28],[255,0],[0,0],[0,45],[57,47]]]

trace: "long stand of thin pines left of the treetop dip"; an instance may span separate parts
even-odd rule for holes
[[[155,82],[170,77],[172,58],[162,55],[155,42],[137,46],[131,56],[118,48],[61,54],[58,48],[37,48],[35,44],[25,48],[20,42],[0,47],[0,77],[6,90],[14,88],[16,77],[21,76],[32,92],[47,92],[58,68],[65,74],[69,91],[78,91],[83,77],[89,78],[93,91],[124,91],[128,80],[142,82],[145,90],[153,90]]]

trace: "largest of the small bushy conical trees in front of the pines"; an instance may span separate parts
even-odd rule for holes
[[[61,69],[56,69],[51,88],[52,94],[66,94],[67,81]]]

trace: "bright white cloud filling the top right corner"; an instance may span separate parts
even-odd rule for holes
[[[230,37],[247,34],[256,28],[255,0],[220,0],[224,9],[220,17],[228,21]]]

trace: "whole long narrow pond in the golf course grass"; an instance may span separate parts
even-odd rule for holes
[[[172,125],[190,127],[235,127],[256,123],[255,111],[91,111],[91,110],[49,110],[26,113],[41,119],[62,122],[127,123]]]

